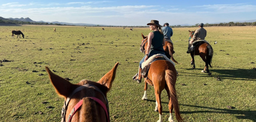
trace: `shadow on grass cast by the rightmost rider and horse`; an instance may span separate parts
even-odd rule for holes
[[[219,67],[216,67],[219,68]],[[251,80],[256,81],[256,70],[254,69],[238,69],[238,68],[232,68],[232,67],[220,67],[220,68],[226,68],[226,69],[210,69],[210,71],[213,73],[212,76],[219,76],[224,79],[230,79],[230,80]],[[186,70],[194,70],[194,69],[186,69]],[[200,70],[200,69],[196,69]],[[219,73],[220,75],[215,75],[214,72]],[[209,77],[206,73],[189,73],[189,72],[180,72],[180,73],[187,73],[187,74],[195,74],[199,75],[199,77]],[[179,76],[193,76],[193,75],[179,75]],[[198,76],[195,76],[198,77]]]

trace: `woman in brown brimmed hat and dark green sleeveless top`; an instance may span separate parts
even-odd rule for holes
[[[153,32],[150,32],[148,36],[146,56],[144,56],[140,61],[138,73],[133,76],[133,80],[137,81],[138,83],[141,83],[141,79],[142,79],[141,64],[153,55],[156,55],[159,53],[165,55],[164,48],[163,48],[165,41],[164,41],[164,35],[161,29],[161,25],[159,25],[158,20],[151,20],[151,22],[147,23],[147,25],[149,25],[150,30],[153,30]]]

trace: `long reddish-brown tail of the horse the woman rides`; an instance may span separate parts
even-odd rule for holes
[[[182,122],[183,119],[180,115],[180,108],[179,108],[176,89],[175,89],[176,79],[177,77],[173,71],[165,70],[165,80],[170,91],[171,102],[175,111],[175,116],[178,122]]]

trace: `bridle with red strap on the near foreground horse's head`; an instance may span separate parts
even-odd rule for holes
[[[84,88],[88,88],[88,87],[93,87],[94,90],[100,92],[102,94],[102,96],[104,97],[105,101],[106,101],[106,105],[98,98],[95,98],[95,97],[88,97],[88,98],[91,98],[93,99],[95,102],[97,102],[98,104],[101,105],[101,107],[104,109],[105,111],[105,114],[106,114],[106,119],[107,119],[107,122],[110,122],[110,118],[109,118],[109,103],[107,102],[107,98],[105,97],[105,95],[101,92],[101,90],[97,87],[97,86],[94,86],[94,85],[91,85],[91,84],[85,84],[85,85],[82,85],[82,86],[79,86],[78,88],[76,88],[70,95],[69,97],[67,97],[67,99],[65,100],[64,102],[64,105],[63,105],[63,108],[62,108],[62,111],[61,111],[61,122],[66,122],[66,111],[67,111],[67,106],[69,105],[69,102],[70,102],[70,99],[72,98],[72,96],[81,91],[82,89]],[[71,113],[69,114],[69,117],[67,119],[67,122],[71,122],[71,119],[73,117],[73,115],[75,114],[75,112],[82,106],[83,104],[83,99],[81,99],[76,105],[75,107],[72,109]]]

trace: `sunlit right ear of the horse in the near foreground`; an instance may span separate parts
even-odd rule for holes
[[[106,75],[104,75],[97,83],[100,83],[102,85],[105,85],[107,87],[107,92],[111,89],[112,83],[115,79],[116,69],[118,66],[118,62],[115,64],[113,69],[111,69],[109,72],[107,72]]]

